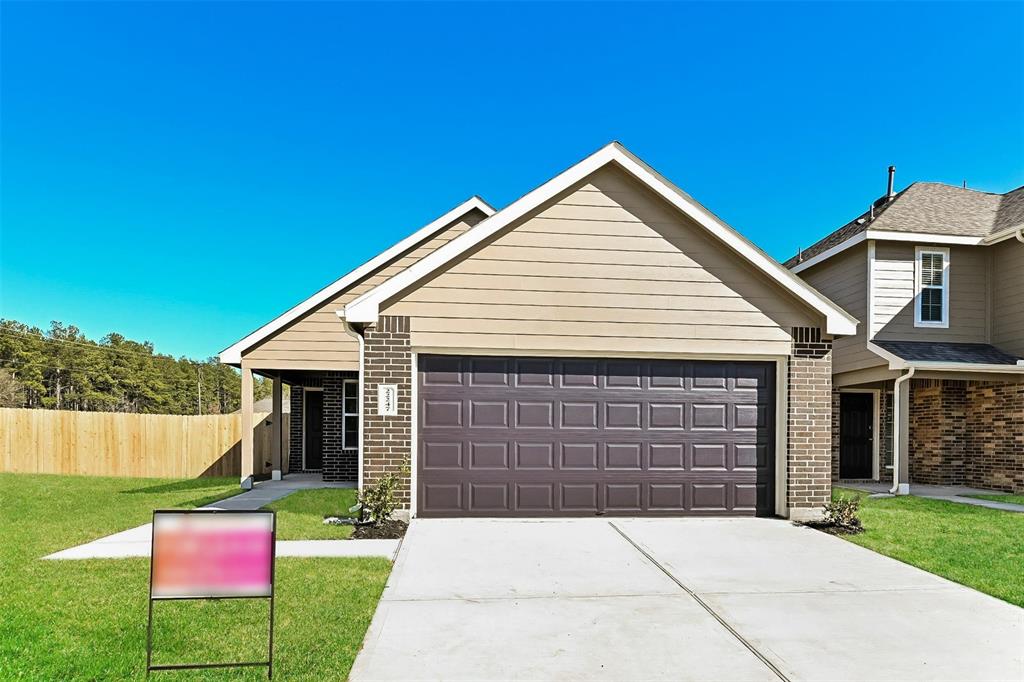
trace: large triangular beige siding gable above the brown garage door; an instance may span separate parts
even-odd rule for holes
[[[820,317],[605,168],[382,306],[431,349],[786,354]]]

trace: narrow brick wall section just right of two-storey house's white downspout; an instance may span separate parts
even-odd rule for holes
[[[963,485],[967,382],[911,382],[910,483]]]

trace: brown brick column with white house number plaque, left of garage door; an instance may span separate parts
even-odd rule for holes
[[[409,317],[382,315],[364,332],[364,484],[373,485],[388,472],[399,473],[412,457],[412,371]],[[394,384],[398,389],[398,414],[377,414],[377,387]],[[410,477],[403,476],[398,491],[401,507],[410,505]]]

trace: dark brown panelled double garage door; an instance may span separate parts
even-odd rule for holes
[[[774,366],[421,355],[422,516],[771,514]]]

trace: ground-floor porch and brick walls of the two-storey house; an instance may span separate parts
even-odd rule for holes
[[[834,483],[888,489],[895,479],[911,495],[922,486],[1020,493],[1022,443],[1024,382],[1017,377],[918,372],[898,385],[834,389]]]

